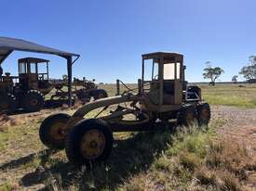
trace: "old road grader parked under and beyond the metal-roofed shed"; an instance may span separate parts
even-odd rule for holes
[[[0,112],[12,112],[17,108],[30,112],[38,111],[44,107],[45,96],[53,89],[56,91],[51,96],[49,105],[67,100],[68,92],[63,90],[63,87],[68,85],[67,80],[49,79],[48,63],[49,60],[42,58],[20,58],[19,76],[10,76],[10,73],[0,75]],[[74,98],[84,102],[91,97],[96,100],[107,96],[106,91],[97,89],[95,83],[85,79],[74,79],[73,88]]]

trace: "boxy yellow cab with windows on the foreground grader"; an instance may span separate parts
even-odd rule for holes
[[[147,68],[151,68],[147,73]],[[177,109],[182,104],[184,82],[183,57],[179,54],[152,53],[142,55],[141,93],[147,95],[147,110]],[[147,88],[149,87],[149,88]]]

